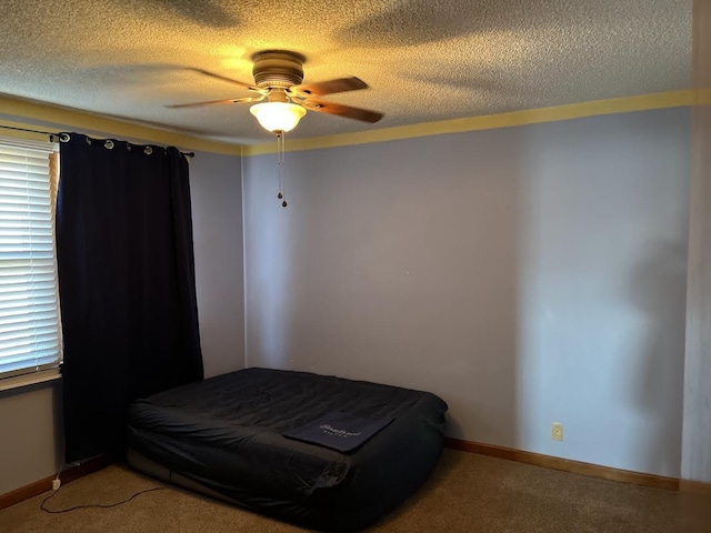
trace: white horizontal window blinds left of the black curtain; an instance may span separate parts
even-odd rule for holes
[[[0,138],[0,379],[61,359],[52,151],[49,142]]]

